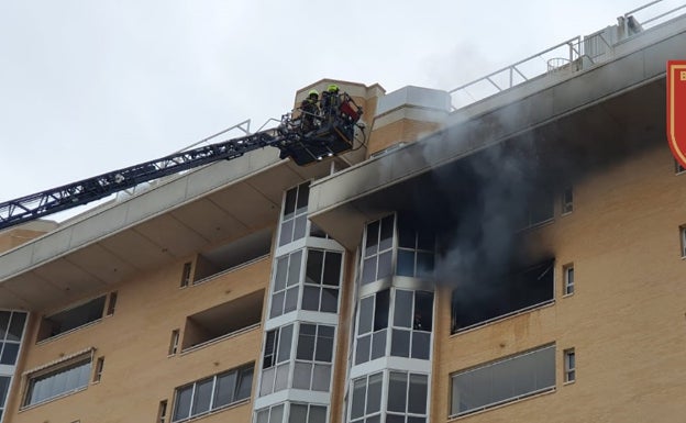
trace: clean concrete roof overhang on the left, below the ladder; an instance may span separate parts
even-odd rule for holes
[[[159,180],[140,194],[90,210],[0,255],[0,309],[59,307],[275,227],[284,190],[328,175],[331,166],[298,167],[266,148]]]

